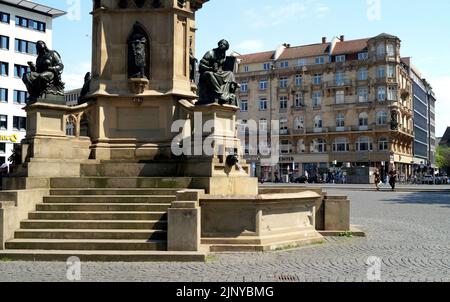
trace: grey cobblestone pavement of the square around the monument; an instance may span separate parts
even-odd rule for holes
[[[343,194],[342,190],[330,193]],[[382,281],[450,282],[450,196],[348,192],[352,224],[367,238],[266,253],[218,254],[207,263],[82,263],[82,281]],[[67,281],[65,263],[0,262],[0,281]]]

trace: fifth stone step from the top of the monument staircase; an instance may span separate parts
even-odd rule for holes
[[[161,220],[167,212],[32,212],[34,220]]]

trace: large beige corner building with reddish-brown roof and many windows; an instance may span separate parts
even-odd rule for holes
[[[280,126],[275,166],[262,166],[247,141],[255,176],[292,181],[306,171],[322,176],[355,166],[379,167],[385,174],[395,164],[408,177],[414,142],[412,82],[400,44],[388,34],[351,41],[341,36],[241,55],[239,131],[251,121],[269,131],[270,121]]]

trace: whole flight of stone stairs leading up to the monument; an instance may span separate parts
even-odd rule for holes
[[[204,261],[167,252],[167,209],[185,178],[51,179],[50,195],[21,222],[0,258],[84,261]]]

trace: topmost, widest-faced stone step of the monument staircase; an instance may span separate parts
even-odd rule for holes
[[[191,188],[192,177],[61,177],[50,180],[50,188]]]

